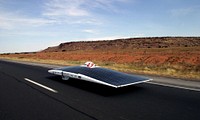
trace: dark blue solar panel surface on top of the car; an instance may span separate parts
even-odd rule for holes
[[[65,67],[60,68],[59,70],[72,72],[76,74],[83,74],[88,77],[94,78],[99,81],[103,81],[115,86],[126,85],[126,84],[134,84],[140,81],[148,80],[148,78],[130,75],[122,72],[117,72],[114,70],[95,67],[95,68],[87,68],[82,66],[73,66],[73,67]]]

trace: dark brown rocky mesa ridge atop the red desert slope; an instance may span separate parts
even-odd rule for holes
[[[147,37],[128,38],[104,41],[67,42],[59,46],[49,47],[43,52],[65,51],[113,51],[140,48],[171,48],[200,46],[200,37]]]

